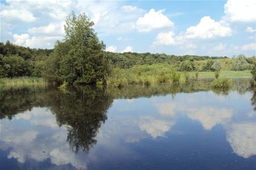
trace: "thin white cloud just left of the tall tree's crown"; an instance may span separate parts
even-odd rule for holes
[[[32,35],[60,35],[64,36],[64,23],[50,23],[43,27],[33,27],[28,29],[28,33]]]

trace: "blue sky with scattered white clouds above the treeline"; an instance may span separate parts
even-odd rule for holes
[[[85,13],[110,52],[256,55],[256,1],[1,0],[1,42],[54,48],[65,18]]]

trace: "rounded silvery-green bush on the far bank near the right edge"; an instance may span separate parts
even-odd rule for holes
[[[234,71],[242,71],[242,70],[250,70],[251,65],[246,61],[246,57],[243,54],[234,58],[231,63],[231,70]]]

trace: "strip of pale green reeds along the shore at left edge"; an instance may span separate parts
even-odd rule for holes
[[[0,87],[46,86],[43,78],[22,76],[19,78],[0,78]]]

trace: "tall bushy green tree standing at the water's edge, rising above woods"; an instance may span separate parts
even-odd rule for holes
[[[108,58],[93,22],[72,12],[66,19],[64,42],[57,41],[44,74],[50,82],[89,84],[106,81]]]

